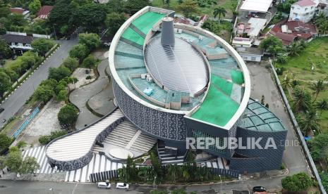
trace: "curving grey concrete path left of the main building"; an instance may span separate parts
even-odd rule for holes
[[[103,106],[102,112],[104,115],[106,115],[108,112],[111,112],[112,109],[108,108],[106,112],[106,106],[102,104],[102,101],[106,101],[104,98],[106,98],[107,95],[111,92],[111,87],[109,87],[109,79],[107,75],[105,74],[105,70],[107,70],[107,67],[109,66],[108,60],[104,59],[101,63],[99,63],[97,70],[99,72],[99,77],[95,82],[92,82],[91,84],[87,84],[85,86],[82,86],[78,89],[75,89],[71,92],[71,95],[69,96],[69,100],[71,103],[76,105],[79,110],[80,114],[78,115],[78,120],[76,121],[75,128],[81,129],[85,127],[85,124],[91,124],[92,122],[97,121],[99,117],[92,114],[90,110],[87,109],[87,101],[92,98],[92,96],[95,96],[98,93],[101,93],[104,89],[107,89],[107,92],[102,93],[102,98],[97,98],[98,104]]]

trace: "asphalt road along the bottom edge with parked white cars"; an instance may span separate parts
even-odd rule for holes
[[[253,186],[265,185],[265,182],[272,181],[272,186],[267,187],[268,190],[272,188],[281,188],[279,186],[280,179],[261,179],[253,181],[240,181],[236,183],[218,183],[215,185],[200,185],[200,186],[180,186],[185,188],[188,192],[196,191],[197,193],[232,193],[233,190],[250,190]],[[83,194],[83,193],[150,193],[152,186],[130,186],[128,190],[118,190],[112,184],[111,189],[99,189],[96,183],[63,183],[63,182],[40,182],[40,181],[2,181],[0,180],[1,194]],[[180,188],[179,187],[179,188]],[[157,190],[174,190],[178,187],[157,187]]]

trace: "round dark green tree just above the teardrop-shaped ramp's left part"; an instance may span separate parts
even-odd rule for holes
[[[78,111],[73,105],[65,105],[58,113],[58,119],[61,124],[71,126],[78,119]]]

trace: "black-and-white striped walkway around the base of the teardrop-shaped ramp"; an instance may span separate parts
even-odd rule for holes
[[[63,172],[62,170],[58,170],[55,168],[51,168],[48,163],[48,158],[45,152],[45,145],[36,148],[30,148],[28,150],[24,150],[22,155],[23,158],[30,156],[35,157],[37,162],[40,164],[40,169],[37,170],[37,174],[53,174],[56,172]],[[89,164],[85,165],[85,167],[81,169],[76,169],[73,171],[66,172],[66,182],[89,182],[89,175],[96,172],[104,172],[112,169],[120,169],[123,167],[122,163],[111,162],[111,160],[107,159],[104,155],[99,155],[93,153],[92,160]]]

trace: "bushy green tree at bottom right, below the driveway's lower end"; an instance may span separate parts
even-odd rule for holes
[[[288,191],[304,191],[312,186],[312,179],[305,172],[294,174],[293,176],[286,176],[281,180],[282,188]]]

